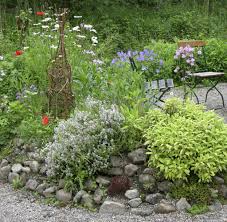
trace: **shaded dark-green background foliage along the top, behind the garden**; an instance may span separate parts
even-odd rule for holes
[[[15,24],[20,9],[68,7],[96,25],[103,53],[142,48],[154,39],[227,38],[225,0],[1,0],[0,28]],[[83,20],[82,20],[83,21]],[[71,22],[74,21],[71,19]],[[108,45],[108,47],[106,47]]]

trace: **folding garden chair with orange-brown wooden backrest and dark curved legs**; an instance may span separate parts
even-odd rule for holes
[[[205,63],[205,70],[201,71],[201,72],[196,72],[196,73],[191,73],[187,75],[187,78],[189,80],[192,80],[191,83],[187,83],[187,86],[190,88],[192,94],[195,95],[197,103],[199,103],[199,98],[195,92],[195,88],[197,88],[198,84],[201,82],[201,80],[206,79],[211,86],[208,88],[207,92],[206,92],[206,96],[205,96],[205,102],[207,102],[207,98],[209,95],[209,92],[212,90],[216,90],[218,92],[218,94],[220,95],[221,99],[222,99],[222,105],[223,107],[225,107],[225,102],[224,102],[224,97],[222,95],[222,93],[218,90],[217,88],[217,84],[220,82],[220,80],[222,79],[222,77],[224,76],[224,72],[211,72],[208,71],[207,69],[207,61],[206,61],[206,53],[205,53],[205,46],[206,46],[206,42],[205,41],[180,41],[178,42],[178,47],[186,47],[186,46],[191,46],[191,47],[201,47],[202,49],[202,57]],[[184,98],[186,98],[187,93],[185,92]]]

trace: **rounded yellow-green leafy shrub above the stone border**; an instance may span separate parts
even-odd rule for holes
[[[148,145],[150,166],[167,179],[209,182],[227,166],[227,126],[213,111],[191,101],[168,100],[137,122]]]

